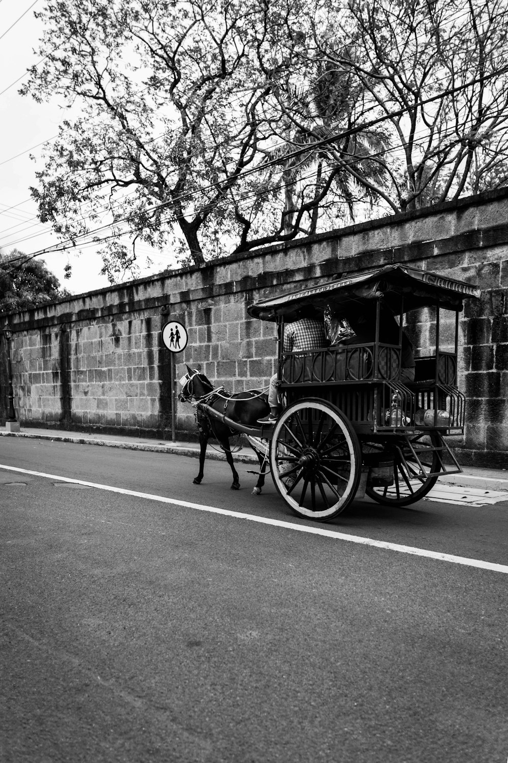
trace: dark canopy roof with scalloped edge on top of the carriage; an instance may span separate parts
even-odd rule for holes
[[[347,275],[323,284],[260,300],[248,306],[248,314],[262,320],[285,316],[295,320],[303,307],[331,307],[334,311],[361,308],[366,301],[382,298],[395,314],[428,307],[439,300],[441,307],[461,311],[462,301],[479,297],[479,288],[445,275],[436,275],[407,265],[386,265],[357,275]]]

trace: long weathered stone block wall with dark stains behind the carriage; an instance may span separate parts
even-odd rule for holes
[[[460,320],[460,387],[468,398],[460,459],[508,461],[508,192],[461,199],[316,237],[94,291],[10,316],[14,404],[21,426],[101,429],[171,438],[171,366],[161,345],[169,317],[189,344],[177,356],[200,364],[216,385],[241,391],[267,385],[275,327],[246,314],[247,304],[314,285],[337,272],[393,262],[478,285]],[[423,311],[414,324],[432,346]],[[6,412],[5,339],[0,364],[0,423]],[[178,439],[193,439],[192,409],[180,405]],[[4,419],[2,419],[4,417]]]

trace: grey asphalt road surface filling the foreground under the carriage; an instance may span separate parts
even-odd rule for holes
[[[508,757],[508,505],[359,501],[325,526],[270,478],[182,456],[2,438],[0,760]],[[75,478],[287,526],[85,488]],[[14,484],[21,483],[21,484]]]

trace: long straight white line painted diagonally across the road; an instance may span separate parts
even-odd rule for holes
[[[292,522],[285,522],[284,520],[272,520],[267,517],[257,517],[252,514],[241,513],[240,511],[232,511],[229,509],[219,509],[215,506],[206,506],[205,504],[193,504],[190,501],[179,501],[177,498],[167,498],[164,495],[153,495],[152,493],[141,493],[136,490],[127,490],[126,488],[113,488],[112,485],[100,485],[97,482],[88,482],[80,479],[71,479],[69,477],[61,477],[60,475],[50,475],[45,472],[32,472],[30,469],[22,469],[18,466],[7,466],[0,464],[0,468],[7,469],[9,472],[21,472],[25,475],[32,475],[34,477],[45,477],[48,479],[58,480],[59,482],[72,482],[75,485],[85,485],[88,488],[97,488],[97,490],[107,490],[111,493],[120,493],[122,495],[132,495],[137,498],[145,498],[147,501],[158,501],[162,504],[173,504],[174,506],[183,506],[189,509],[197,509],[199,511],[209,511],[215,514],[222,514],[225,517],[235,517],[236,519],[251,520],[251,522],[257,522],[260,524],[272,525],[275,527],[283,527],[286,530],[297,530],[300,533],[309,533],[310,535],[321,535],[325,538],[335,538],[337,540],[347,540],[352,543],[359,543],[362,546],[373,546],[376,549],[388,549],[389,551],[397,551],[403,554],[412,554],[415,556],[423,556],[427,559],[437,559],[439,562],[452,562],[455,565],[465,565],[467,567],[477,567],[484,570],[490,570],[494,572],[504,572],[508,574],[508,565],[499,565],[494,562],[484,562],[481,559],[468,559],[465,556],[455,556],[453,554],[443,554],[438,551],[428,551],[427,549],[416,549],[413,546],[401,546],[399,543],[391,543],[385,540],[374,540],[372,538],[363,538],[358,535],[347,535],[346,533],[338,533],[337,530],[325,530],[324,527],[311,527],[308,525],[299,525]]]

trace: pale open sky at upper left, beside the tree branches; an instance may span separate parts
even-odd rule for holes
[[[24,76],[27,68],[40,60],[34,49],[37,49],[42,27],[34,18],[34,11],[42,8],[43,0],[35,3],[34,0],[0,0],[0,249],[3,253],[15,248],[31,254],[59,240],[50,226],[37,221],[37,205],[30,199],[30,185],[37,185],[35,173],[42,166],[40,143],[56,137],[63,112],[56,102],[37,104],[30,96],[18,95],[18,89],[27,79]],[[30,153],[36,161],[30,159]],[[85,250],[81,256],[65,252],[45,254],[40,259],[72,294],[109,285],[106,276],[101,275],[102,261],[94,250]],[[171,264],[167,254],[152,253],[152,259],[153,264],[148,265],[144,257],[139,257],[141,276],[161,272]],[[65,280],[64,268],[69,262],[72,277]]]

